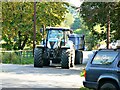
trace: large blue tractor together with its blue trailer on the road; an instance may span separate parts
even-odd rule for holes
[[[73,34],[71,29],[47,27],[46,38],[34,49],[34,67],[50,66],[50,63],[61,64],[64,69],[80,64],[84,49],[84,35]],[[80,43],[81,42],[81,43]]]

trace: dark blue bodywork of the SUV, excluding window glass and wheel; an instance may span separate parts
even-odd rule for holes
[[[100,52],[97,51],[93,59],[90,60],[86,65],[86,77],[85,81],[83,81],[83,85],[85,87],[97,89],[101,83],[100,81],[104,79],[114,80],[120,87],[120,65],[118,65],[120,64],[120,50],[103,51],[107,53],[118,52],[118,54],[110,64],[92,64],[92,61],[96,57],[97,53]]]

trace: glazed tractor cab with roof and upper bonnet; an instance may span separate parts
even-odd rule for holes
[[[65,46],[69,40],[70,29],[59,27],[46,28],[46,39],[44,45],[47,48],[55,49],[61,46]]]

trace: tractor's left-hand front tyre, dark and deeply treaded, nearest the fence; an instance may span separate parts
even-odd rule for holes
[[[43,67],[42,48],[34,50],[34,67]]]

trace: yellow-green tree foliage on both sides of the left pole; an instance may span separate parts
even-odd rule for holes
[[[33,42],[33,2],[2,2],[2,38],[6,41],[3,48],[24,49]],[[39,32],[42,25],[55,26],[65,19],[67,3],[64,2],[37,2],[36,29],[37,44],[42,34]]]

